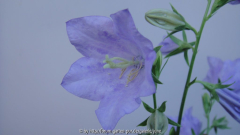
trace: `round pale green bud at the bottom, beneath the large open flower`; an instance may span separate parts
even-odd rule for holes
[[[168,118],[164,113],[156,110],[147,120],[147,128],[157,132],[156,135],[164,135],[168,129]],[[159,132],[161,131],[161,132]]]

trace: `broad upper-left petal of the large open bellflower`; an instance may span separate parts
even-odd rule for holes
[[[133,56],[141,54],[139,48],[133,45],[136,43],[116,34],[114,23],[108,17],[75,18],[66,25],[71,44],[84,56],[103,60],[108,54],[109,57],[132,59]]]

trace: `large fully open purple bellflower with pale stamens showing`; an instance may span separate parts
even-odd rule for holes
[[[66,25],[71,44],[85,57],[72,64],[61,85],[78,97],[101,101],[96,115],[105,130],[112,130],[140,106],[140,97],[155,93],[153,45],[138,32],[128,9]]]

